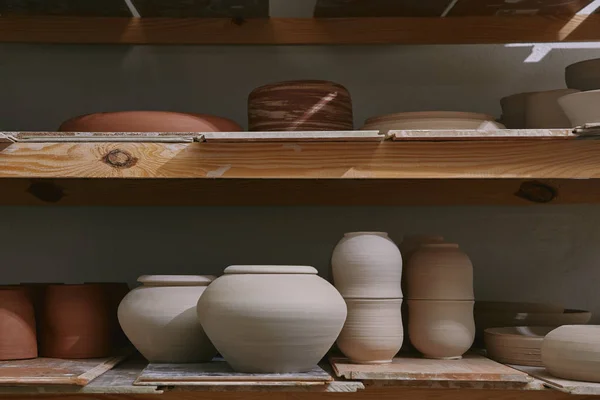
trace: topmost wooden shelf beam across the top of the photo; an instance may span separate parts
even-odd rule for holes
[[[498,44],[600,40],[600,15],[455,18],[2,17],[0,42],[108,44]]]

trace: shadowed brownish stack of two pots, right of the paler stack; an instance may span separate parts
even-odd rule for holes
[[[412,345],[427,358],[461,358],[475,339],[469,257],[457,244],[421,244],[408,262],[406,291]]]

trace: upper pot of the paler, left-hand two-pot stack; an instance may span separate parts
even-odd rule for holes
[[[402,256],[385,232],[346,233],[331,257],[333,282],[344,298],[402,298]]]

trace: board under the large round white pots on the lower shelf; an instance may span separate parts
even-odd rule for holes
[[[195,386],[246,385],[305,386],[324,385],[333,377],[321,367],[308,372],[284,374],[247,374],[235,372],[225,361],[202,364],[149,364],[134,385]]]

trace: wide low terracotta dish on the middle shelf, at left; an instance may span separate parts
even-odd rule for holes
[[[69,119],[61,132],[238,132],[234,121],[206,114],[168,111],[120,111]]]

